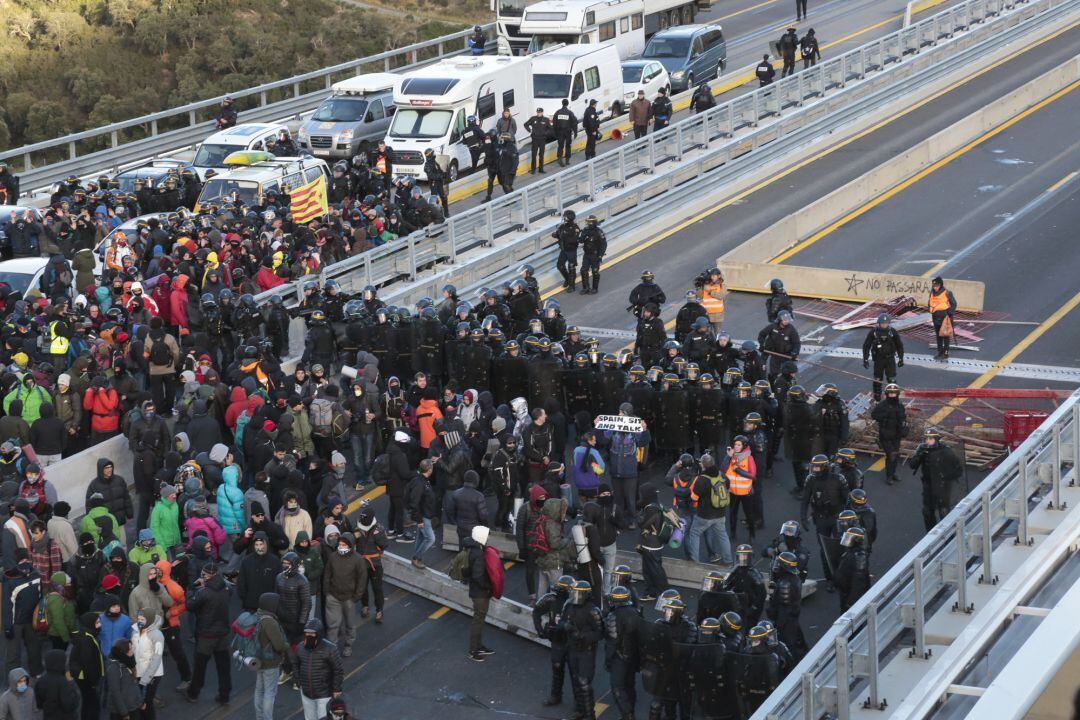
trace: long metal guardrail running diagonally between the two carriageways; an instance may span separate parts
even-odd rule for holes
[[[905,83],[907,90],[917,86],[913,78],[930,82],[1026,32],[1031,23],[1049,23],[1077,6],[1078,0],[967,0],[440,226],[329,266],[323,275],[347,291],[391,286],[383,293],[388,299],[429,295],[445,282],[463,288],[526,258],[545,260],[553,252],[551,227],[567,208],[607,218],[608,234],[617,236],[662,212],[672,202],[669,191],[711,191],[835,130],[838,121],[864,114],[872,103],[894,100]],[[608,196],[598,200],[600,193]],[[276,288],[286,299],[296,291],[295,283]]]

